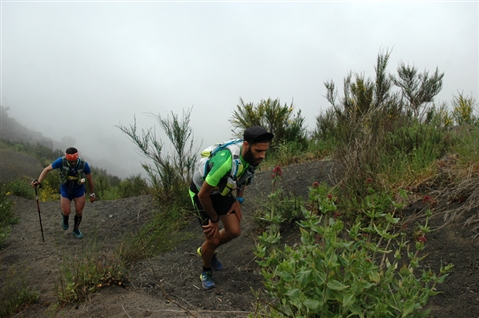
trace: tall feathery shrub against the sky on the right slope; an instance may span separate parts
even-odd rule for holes
[[[387,74],[390,52],[379,54],[375,67],[376,78],[366,79],[362,74],[355,78],[350,73],[344,80],[344,96],[338,101],[333,81],[325,83],[326,98],[332,108],[316,118],[316,138],[335,138],[338,143],[350,143],[366,125],[373,135],[394,129],[394,123],[406,119],[422,121],[430,112],[427,104],[442,88],[443,74],[436,70],[419,74],[415,67],[400,64],[398,76]],[[400,93],[393,90],[393,84]],[[403,103],[402,96],[408,103]]]

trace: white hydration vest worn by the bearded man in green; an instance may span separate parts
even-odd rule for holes
[[[214,144],[201,152],[201,159],[198,163],[198,169],[195,172],[193,182],[200,188],[203,181],[206,179],[208,172],[211,170],[210,159],[218,153],[220,150],[228,149],[231,153],[231,170],[228,178],[225,182],[220,182],[219,189],[217,190],[221,195],[226,196],[231,191],[243,184],[249,184],[253,178],[255,168],[249,166],[246,171],[244,170],[243,162],[241,161],[241,145],[242,139],[234,139],[226,142]],[[238,178],[238,176],[241,177]]]

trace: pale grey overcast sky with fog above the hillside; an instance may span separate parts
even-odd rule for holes
[[[192,108],[206,147],[231,137],[240,98],[278,98],[312,130],[329,107],[324,82],[341,90],[350,71],[374,77],[387,50],[393,74],[400,62],[445,73],[436,102],[478,100],[478,17],[477,1],[1,1],[1,101],[127,177],[145,160],[116,125],[136,117],[166,142],[148,114]]]

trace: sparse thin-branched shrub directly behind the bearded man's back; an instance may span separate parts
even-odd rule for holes
[[[175,148],[174,155],[163,155],[163,142],[156,139],[154,130],[142,131],[140,136],[136,128],[136,119],[129,127],[117,126],[138,147],[140,153],[153,161],[153,165],[143,163],[142,166],[150,179],[153,195],[160,203],[176,202],[182,206],[191,204],[184,193],[187,193],[198,151],[193,151],[194,139],[189,126],[190,115],[191,109],[184,112],[181,119],[173,112],[171,118],[155,116]]]

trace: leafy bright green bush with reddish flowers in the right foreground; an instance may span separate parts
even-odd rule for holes
[[[346,230],[335,198],[326,193],[324,186],[311,188],[313,208],[303,208],[299,223],[301,244],[280,249],[279,231],[259,237],[255,254],[274,301],[270,316],[426,317],[424,307],[452,265],[441,266],[439,274],[419,272],[425,236],[410,243],[405,233],[391,233],[399,220],[381,211],[389,197],[371,196],[387,202],[364,211],[367,226],[354,223]],[[427,222],[421,230],[428,232]]]

